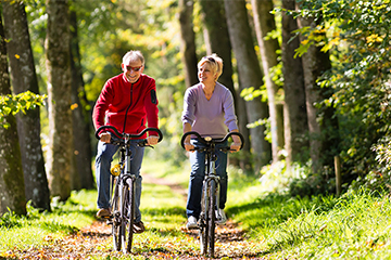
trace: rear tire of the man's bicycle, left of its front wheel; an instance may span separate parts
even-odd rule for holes
[[[121,250],[121,212],[119,212],[119,195],[118,195],[118,185],[115,183],[117,178],[113,178],[114,192],[111,203],[111,210],[113,213],[112,218],[112,236],[113,236],[113,246],[114,250]]]

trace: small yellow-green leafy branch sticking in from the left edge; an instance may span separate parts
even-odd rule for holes
[[[22,112],[34,109],[37,106],[42,106],[47,95],[35,94],[26,91],[16,95],[1,95],[0,96],[0,127],[9,128],[10,125],[5,121],[8,115],[16,115]]]

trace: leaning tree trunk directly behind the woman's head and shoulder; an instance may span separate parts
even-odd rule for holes
[[[244,136],[245,145],[243,147],[242,154],[247,156],[240,156],[239,165],[242,169],[250,170],[250,138],[249,129],[245,127],[248,125],[247,114],[245,114],[245,104],[244,102],[238,102],[238,94],[234,87],[232,80],[232,55],[231,55],[231,44],[229,41],[229,34],[227,27],[227,20],[224,10],[224,2],[222,1],[207,1],[200,0],[201,5],[201,18],[204,24],[204,39],[206,46],[206,53],[210,55],[216,53],[223,58],[224,68],[223,74],[219,77],[218,81],[227,87],[234,96],[235,100],[235,109],[238,116],[238,123],[240,132]],[[230,161],[235,161],[232,157]],[[236,164],[236,162],[235,162]]]

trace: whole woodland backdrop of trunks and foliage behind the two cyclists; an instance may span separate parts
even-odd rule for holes
[[[182,95],[217,53],[242,174],[332,194],[339,158],[344,191],[390,190],[389,0],[2,0],[0,22],[0,213],[94,188],[91,109],[128,50],[156,79],[164,141],[150,157],[187,162]]]

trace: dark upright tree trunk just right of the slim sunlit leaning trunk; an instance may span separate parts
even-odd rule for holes
[[[282,0],[282,9],[294,10],[294,0]],[[297,20],[282,13],[282,73],[285,90],[285,143],[287,167],[293,161],[305,162],[308,148],[308,125],[305,107],[304,75],[301,57],[294,57],[299,39],[294,38]]]

